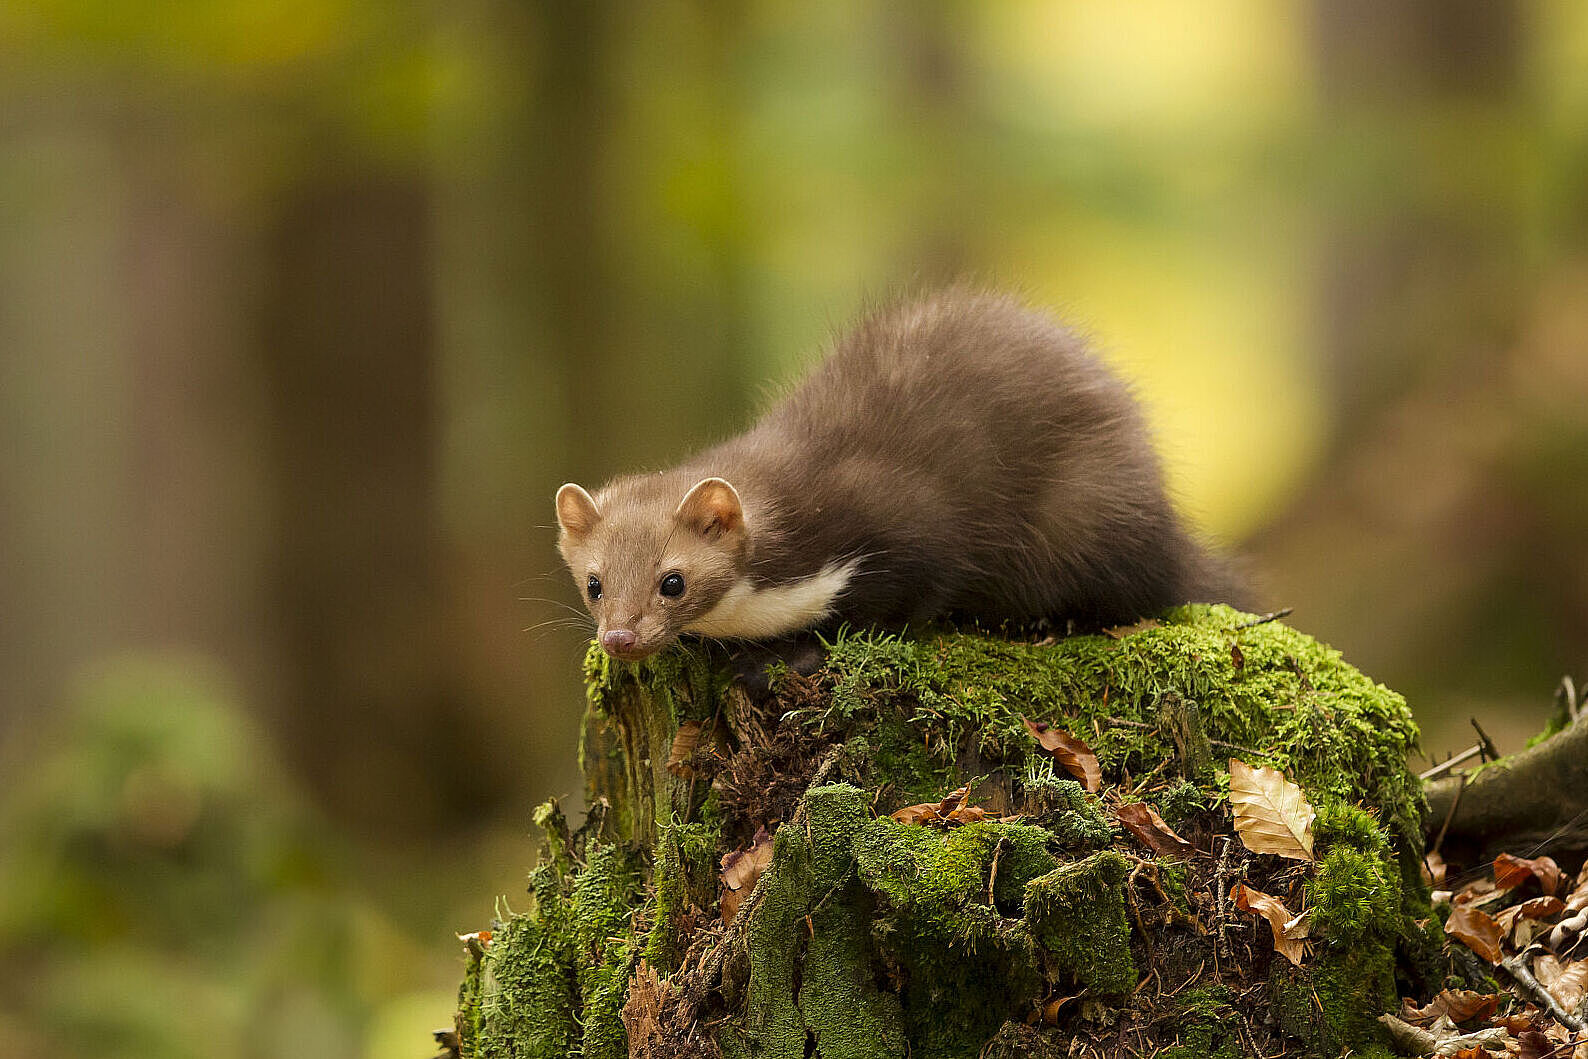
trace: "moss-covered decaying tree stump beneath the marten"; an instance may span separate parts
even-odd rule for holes
[[[732,672],[702,646],[589,656],[592,810],[576,834],[538,810],[530,907],[468,942],[459,1054],[1390,1054],[1374,1016],[1450,972],[1410,713],[1278,622],[1191,607],[1118,638],[853,633],[759,697]],[[1086,740],[1100,792],[1023,718]],[[1316,864],[1232,837],[1232,756],[1302,786]],[[986,819],[889,816],[962,784]],[[1131,800],[1199,853],[1134,845],[1112,824]],[[770,864],[724,924],[721,857],[762,827]],[[1234,910],[1235,880],[1313,910],[1301,969]]]

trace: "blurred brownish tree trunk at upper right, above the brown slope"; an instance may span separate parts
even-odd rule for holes
[[[1482,372],[1515,340],[1521,194],[1512,170],[1478,159],[1515,146],[1485,138],[1517,117],[1521,14],[1517,0],[1331,0],[1315,29],[1324,137],[1363,167],[1331,189],[1320,298],[1337,441],[1350,445],[1404,395]],[[1356,133],[1382,122],[1401,152],[1361,159]],[[1440,170],[1448,184],[1405,179]]]

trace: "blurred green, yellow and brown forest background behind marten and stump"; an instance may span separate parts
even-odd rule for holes
[[[1588,676],[1577,0],[0,6],[6,1051],[426,1054],[578,803],[554,487],[964,275],[1429,751]]]

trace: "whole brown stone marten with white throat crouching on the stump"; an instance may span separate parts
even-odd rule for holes
[[[1062,324],[967,289],[865,316],[748,432],[556,506],[597,638],[630,660],[680,633],[1099,627],[1226,594],[1124,384]]]

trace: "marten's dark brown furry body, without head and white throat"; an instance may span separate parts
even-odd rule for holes
[[[1212,587],[1124,384],[1004,295],[875,313],[711,465],[775,497],[753,576],[861,557],[856,621],[1116,622]]]

